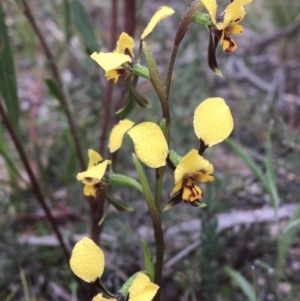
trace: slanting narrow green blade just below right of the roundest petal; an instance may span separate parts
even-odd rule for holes
[[[240,145],[238,145],[236,142],[234,142],[230,138],[227,138],[225,141],[233,149],[233,151],[235,151],[235,153],[237,155],[239,155],[239,157],[241,159],[243,159],[243,161],[252,170],[254,175],[259,179],[259,181],[262,184],[262,186],[264,187],[265,191],[270,195],[271,192],[269,189],[269,185],[266,180],[266,176],[261,171],[261,168],[250,158],[250,156],[242,149],[242,147]]]

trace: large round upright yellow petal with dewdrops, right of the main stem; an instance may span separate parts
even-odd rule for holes
[[[208,146],[226,139],[233,129],[233,118],[223,98],[204,100],[194,112],[194,130]]]

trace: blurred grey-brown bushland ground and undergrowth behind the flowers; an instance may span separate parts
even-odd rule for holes
[[[14,59],[19,106],[16,128],[71,248],[90,232],[88,202],[75,178],[82,168],[60,92],[51,84],[53,61],[47,59],[22,2],[2,1],[0,16]],[[107,82],[89,54],[110,47],[113,2],[118,6],[115,25],[119,35],[132,18],[126,12],[126,1],[27,0],[59,70],[85,162],[87,149],[99,148],[102,121],[107,117],[103,115],[107,113],[103,113]],[[173,37],[190,1],[132,2],[136,39],[160,5],[176,11],[148,38],[165,78]],[[228,1],[218,3],[222,11]],[[204,187],[208,207],[199,210],[180,204],[163,214],[163,300],[300,300],[300,3],[254,0],[246,10],[245,31],[235,39],[237,51],[226,55],[218,49],[223,78],[207,66],[208,32],[204,27],[192,24],[180,47],[170,96],[171,148],[183,155],[197,147],[192,116],[207,97],[226,100],[235,128],[231,142],[207,151],[216,177]],[[3,25],[1,30],[3,39]],[[5,61],[0,62],[1,69]],[[2,72],[2,87],[3,76]],[[110,99],[108,128],[115,124],[114,112],[124,98],[124,84],[119,82]],[[158,122],[160,108],[151,85],[141,80],[138,90],[153,108],[135,108],[128,118]],[[4,103],[4,95],[0,101]],[[77,300],[77,284],[68,262],[28,185],[28,174],[5,122],[1,122],[0,299]],[[125,145],[115,169],[135,176],[132,145],[129,140]],[[172,184],[168,171],[164,204]],[[102,278],[111,290],[143,268],[141,238],[154,248],[146,203],[126,188],[118,191],[118,198],[135,211],[107,209],[100,245],[106,255]]]

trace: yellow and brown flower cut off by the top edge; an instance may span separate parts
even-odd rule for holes
[[[238,23],[245,17],[244,5],[252,0],[233,0],[221,14],[217,14],[216,0],[199,1],[208,11],[212,21],[210,31],[215,35],[214,49],[220,41],[224,52],[231,53],[236,50],[237,44],[230,35],[238,35],[243,32],[243,27]]]

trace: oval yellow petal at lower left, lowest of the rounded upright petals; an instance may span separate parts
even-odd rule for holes
[[[104,253],[88,237],[76,243],[70,258],[73,273],[86,282],[93,282],[104,270]]]

